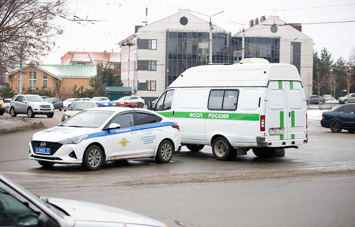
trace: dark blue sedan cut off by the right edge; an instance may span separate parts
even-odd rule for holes
[[[354,132],[355,104],[345,104],[332,111],[323,112],[320,124],[330,128],[332,132],[340,132],[342,129]]]

